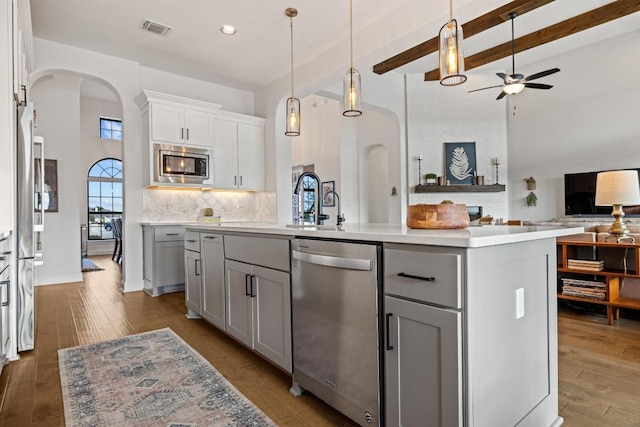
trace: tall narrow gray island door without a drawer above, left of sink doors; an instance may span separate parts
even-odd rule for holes
[[[225,329],[224,236],[200,233],[202,260],[202,317],[218,328]]]

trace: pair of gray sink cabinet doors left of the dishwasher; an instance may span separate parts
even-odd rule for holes
[[[227,333],[291,372],[290,275],[225,260]]]

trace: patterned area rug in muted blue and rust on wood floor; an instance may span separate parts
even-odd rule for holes
[[[275,426],[169,328],[58,359],[67,426]]]

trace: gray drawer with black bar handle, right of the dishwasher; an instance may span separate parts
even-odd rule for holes
[[[462,254],[430,248],[385,248],[384,290],[417,301],[462,308]]]

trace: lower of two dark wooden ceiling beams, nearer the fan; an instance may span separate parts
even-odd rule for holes
[[[640,0],[617,0],[549,27],[534,31],[526,36],[519,37],[515,40],[514,50],[515,53],[523,52],[639,11]],[[464,68],[465,71],[468,71],[510,55],[511,40],[466,57],[464,59]],[[439,79],[440,72],[438,69],[431,70],[424,75],[425,81]]]

